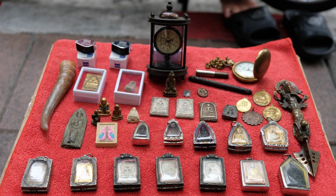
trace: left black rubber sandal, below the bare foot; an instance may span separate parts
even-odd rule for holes
[[[277,24],[265,6],[232,14],[227,22],[241,47],[280,39]]]

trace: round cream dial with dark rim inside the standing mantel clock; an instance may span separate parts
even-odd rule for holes
[[[182,36],[174,27],[162,27],[154,35],[154,47],[163,55],[176,54],[182,47]]]

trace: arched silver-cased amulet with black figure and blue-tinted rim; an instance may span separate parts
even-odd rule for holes
[[[205,122],[198,123],[194,132],[195,150],[214,150],[217,146],[215,132]]]

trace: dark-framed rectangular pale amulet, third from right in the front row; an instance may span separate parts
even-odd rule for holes
[[[224,158],[215,154],[200,158],[200,189],[212,191],[226,189]]]

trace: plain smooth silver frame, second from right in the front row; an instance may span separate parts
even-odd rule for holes
[[[248,159],[248,160],[246,160]],[[245,160],[240,160],[240,171],[241,171],[241,179],[242,179],[242,190],[243,191],[260,191],[260,192],[266,192],[269,190],[269,181],[268,181],[268,177],[267,177],[267,172],[266,172],[266,167],[265,167],[265,163],[264,161],[261,160],[253,160],[252,158],[246,158]],[[245,178],[244,178],[244,167],[243,167],[243,162],[245,161],[249,161],[249,162],[260,162],[262,164],[262,169],[263,169],[263,173],[264,173],[264,177],[265,177],[265,185],[258,185],[258,184],[254,184],[254,185],[247,185],[245,182]]]

